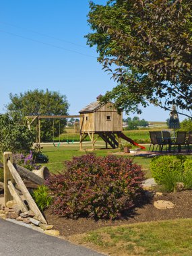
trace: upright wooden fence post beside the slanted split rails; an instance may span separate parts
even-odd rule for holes
[[[11,152],[4,152],[3,154],[3,168],[4,168],[4,197],[5,197],[5,206],[7,201],[13,200],[13,197],[8,189],[8,181],[13,183],[13,176],[9,171],[9,167],[7,166],[7,160],[13,162],[13,156]]]

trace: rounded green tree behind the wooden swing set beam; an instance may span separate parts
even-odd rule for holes
[[[11,102],[7,104],[7,113],[16,122],[23,122],[29,115],[67,115],[69,104],[65,95],[49,90],[29,90],[20,94],[9,94]],[[66,120],[55,119],[55,135],[63,131]],[[42,141],[53,137],[53,119],[41,119],[40,137]]]

